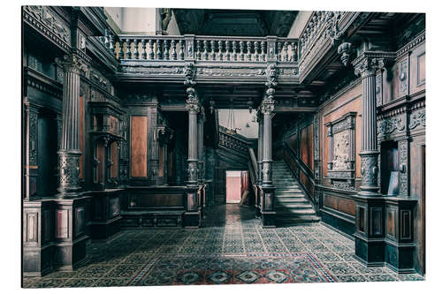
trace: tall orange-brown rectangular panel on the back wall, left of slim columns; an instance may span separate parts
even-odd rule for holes
[[[148,177],[148,117],[131,117],[131,177]]]

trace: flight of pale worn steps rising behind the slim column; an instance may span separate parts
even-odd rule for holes
[[[276,221],[278,224],[319,222],[315,208],[284,161],[273,162]]]

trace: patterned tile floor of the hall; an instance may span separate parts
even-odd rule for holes
[[[423,280],[364,267],[354,241],[321,223],[263,229],[252,209],[238,205],[207,215],[198,230],[125,230],[89,245],[86,266],[24,278],[23,287]]]

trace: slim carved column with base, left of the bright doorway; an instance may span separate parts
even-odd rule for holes
[[[187,63],[185,70],[187,86],[186,109],[188,111],[188,155],[187,155],[187,195],[186,212],[184,214],[185,227],[199,227],[201,211],[198,203],[198,113],[200,112],[199,100],[196,97],[194,85],[194,64]]]

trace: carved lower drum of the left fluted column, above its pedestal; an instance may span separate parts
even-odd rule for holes
[[[58,187],[58,198],[78,197],[80,192],[80,150],[58,151],[60,167],[60,185]]]

